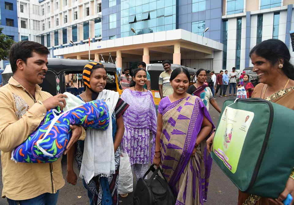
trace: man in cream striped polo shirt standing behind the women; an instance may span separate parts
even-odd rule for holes
[[[160,73],[158,84],[159,84],[159,95],[160,99],[171,95],[174,90],[171,87],[171,82],[169,81],[171,77],[171,62],[169,60],[165,60],[162,62],[164,72]]]

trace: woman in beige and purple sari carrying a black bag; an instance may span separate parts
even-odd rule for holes
[[[176,204],[199,205],[206,201],[212,159],[203,140],[214,126],[202,100],[187,94],[189,73],[171,73],[173,94],[158,106],[156,149],[153,163],[162,170],[177,198]]]

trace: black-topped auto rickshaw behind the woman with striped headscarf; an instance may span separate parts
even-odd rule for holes
[[[79,95],[84,91],[84,88],[67,88],[66,74],[83,73],[84,66],[89,60],[63,59],[63,58],[48,58],[48,71],[43,83],[40,84],[43,91],[49,92],[51,95],[70,92],[74,95]],[[105,89],[118,91],[121,95],[122,91],[118,87],[118,77],[116,67],[112,63],[102,63],[107,70],[107,84]],[[10,65],[7,65],[2,73],[3,85],[8,83],[9,78],[13,76]]]

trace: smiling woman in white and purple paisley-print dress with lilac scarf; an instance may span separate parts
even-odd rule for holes
[[[129,89],[125,89],[121,99],[129,104],[129,108],[123,114],[125,132],[121,142],[122,151],[128,153],[133,174],[137,180],[144,176],[151,161],[149,136],[154,155],[154,140],[156,136],[156,110],[151,91],[143,88],[147,81],[145,69],[136,69]],[[125,196],[125,195],[122,195]]]

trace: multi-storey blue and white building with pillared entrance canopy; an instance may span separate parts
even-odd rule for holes
[[[169,59],[196,69],[242,70],[251,65],[250,49],[270,38],[285,42],[294,59],[289,36],[294,30],[293,4],[294,0],[17,0],[19,29],[14,39],[40,42],[50,49],[50,57],[88,59],[90,53],[92,60],[113,59],[123,68],[141,60]]]

